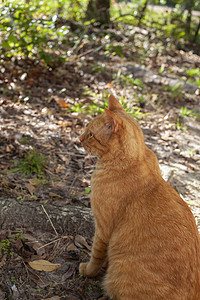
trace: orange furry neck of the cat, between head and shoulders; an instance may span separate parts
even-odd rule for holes
[[[135,198],[143,193],[150,193],[155,186],[160,184],[162,180],[160,168],[156,155],[146,147],[145,155],[142,160],[134,160],[133,158],[117,158],[116,160],[98,160],[96,170],[92,176],[92,185],[95,182],[111,182],[113,179],[124,187],[127,182],[127,191]]]

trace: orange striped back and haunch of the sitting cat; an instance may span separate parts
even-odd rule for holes
[[[190,209],[171,186],[161,180],[143,198],[130,201],[118,220],[105,281],[114,286],[125,270],[120,280],[127,288],[117,299],[200,299],[199,234]]]

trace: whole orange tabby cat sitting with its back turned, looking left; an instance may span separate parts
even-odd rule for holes
[[[80,138],[98,157],[91,181],[95,237],[80,273],[104,280],[115,300],[200,300],[200,241],[194,217],[163,180],[137,122],[110,96]]]

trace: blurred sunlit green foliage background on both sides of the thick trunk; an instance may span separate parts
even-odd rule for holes
[[[138,25],[138,16],[145,2],[146,0],[132,0],[126,2],[123,9],[118,5],[120,3],[113,3],[110,9],[112,20]],[[192,19],[190,32],[187,33],[187,11],[183,7],[188,5],[188,0],[157,0],[153,3],[169,4],[177,10],[173,14],[166,12],[163,19],[159,18],[157,12],[147,9],[144,16],[140,16],[142,27],[164,30],[167,35],[174,36],[180,42],[193,40],[198,18]],[[55,61],[68,60],[71,55],[69,48],[76,44],[88,25],[95,25],[95,20],[87,21],[87,5],[87,0],[4,1],[0,11],[0,54],[5,57],[28,56],[43,60],[50,66]],[[199,6],[199,1],[195,0],[193,8],[199,9]],[[84,30],[71,30],[70,22],[80,22]],[[199,36],[195,42],[200,43]],[[118,52],[121,53],[120,49]]]

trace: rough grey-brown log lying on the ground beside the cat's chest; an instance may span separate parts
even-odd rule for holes
[[[47,217],[41,203],[20,202],[0,198],[1,230],[31,230],[32,232],[53,232],[93,236],[91,209],[71,205],[45,204]],[[51,225],[51,222],[53,226]]]

